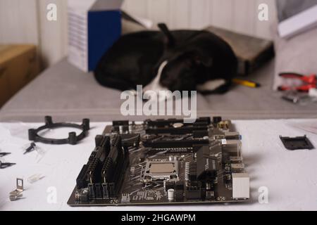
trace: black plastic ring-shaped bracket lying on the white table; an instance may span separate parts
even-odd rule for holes
[[[68,134],[68,138],[66,139],[49,139],[44,138],[43,136],[39,136],[39,131],[44,129],[55,129],[60,127],[70,127],[70,128],[77,128],[81,129],[82,133],[76,136],[75,132],[70,132]],[[82,124],[72,124],[66,122],[57,122],[54,123],[50,116],[45,117],[45,125],[39,127],[37,129],[29,129],[29,140],[35,142],[42,142],[42,143],[49,143],[53,145],[62,145],[62,144],[70,144],[75,145],[78,141],[84,139],[87,135],[87,131],[90,129],[89,127],[89,119],[83,119]]]

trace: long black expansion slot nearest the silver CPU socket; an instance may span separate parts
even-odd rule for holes
[[[201,139],[201,140],[179,140],[179,141],[165,141],[165,140],[158,140],[158,141],[145,141],[145,147],[151,148],[192,148],[196,145],[208,145],[209,140]]]

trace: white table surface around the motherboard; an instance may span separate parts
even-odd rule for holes
[[[286,150],[282,136],[303,136],[317,146],[317,135],[294,124],[312,124],[317,120],[233,121],[242,134],[242,155],[251,181],[251,200],[240,204],[137,206],[137,207],[70,207],[67,205],[75,179],[94,148],[94,136],[101,134],[106,123],[91,123],[89,136],[76,146],[37,145],[45,151],[23,155],[27,129],[42,124],[0,124],[0,150],[11,152],[0,160],[17,165],[0,169],[0,210],[317,210],[317,150]],[[58,132],[58,133],[57,133]],[[67,136],[66,129],[50,135]],[[56,136],[56,137],[57,137]],[[30,184],[27,178],[42,174],[43,179]],[[15,179],[24,179],[23,198],[11,202],[8,193],[15,189]],[[268,204],[258,201],[259,188],[268,188]],[[56,187],[56,203],[48,203],[48,188]]]

